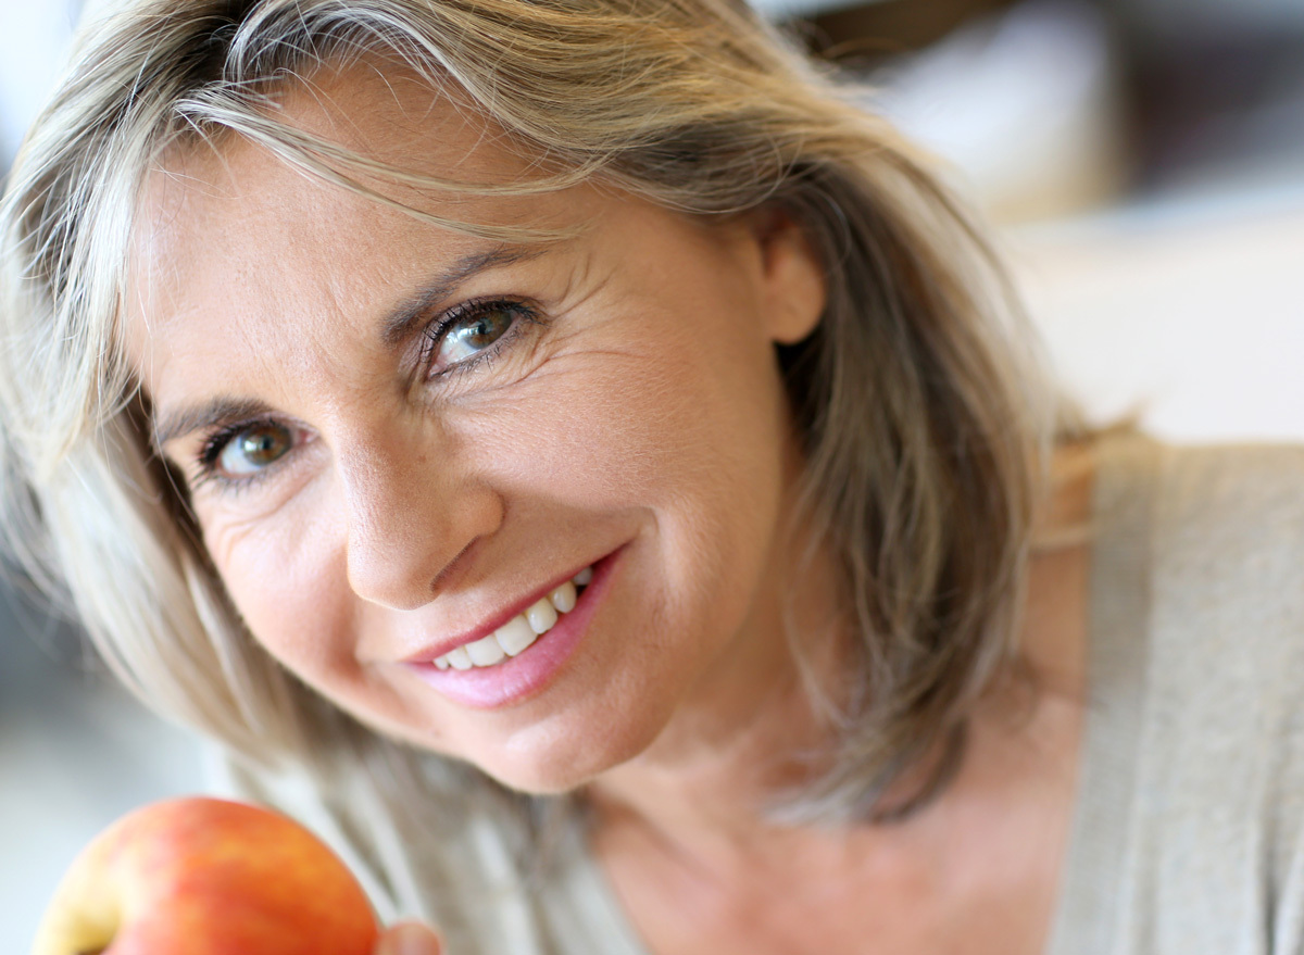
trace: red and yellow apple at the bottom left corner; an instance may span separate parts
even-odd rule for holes
[[[33,955],[372,955],[376,916],[306,828],[243,802],[137,809],[73,861]]]

